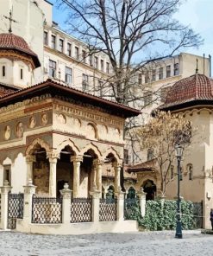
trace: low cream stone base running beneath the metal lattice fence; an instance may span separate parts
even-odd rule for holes
[[[27,224],[17,220],[16,231],[31,234],[98,234],[137,232],[137,221],[102,221],[71,224]]]

